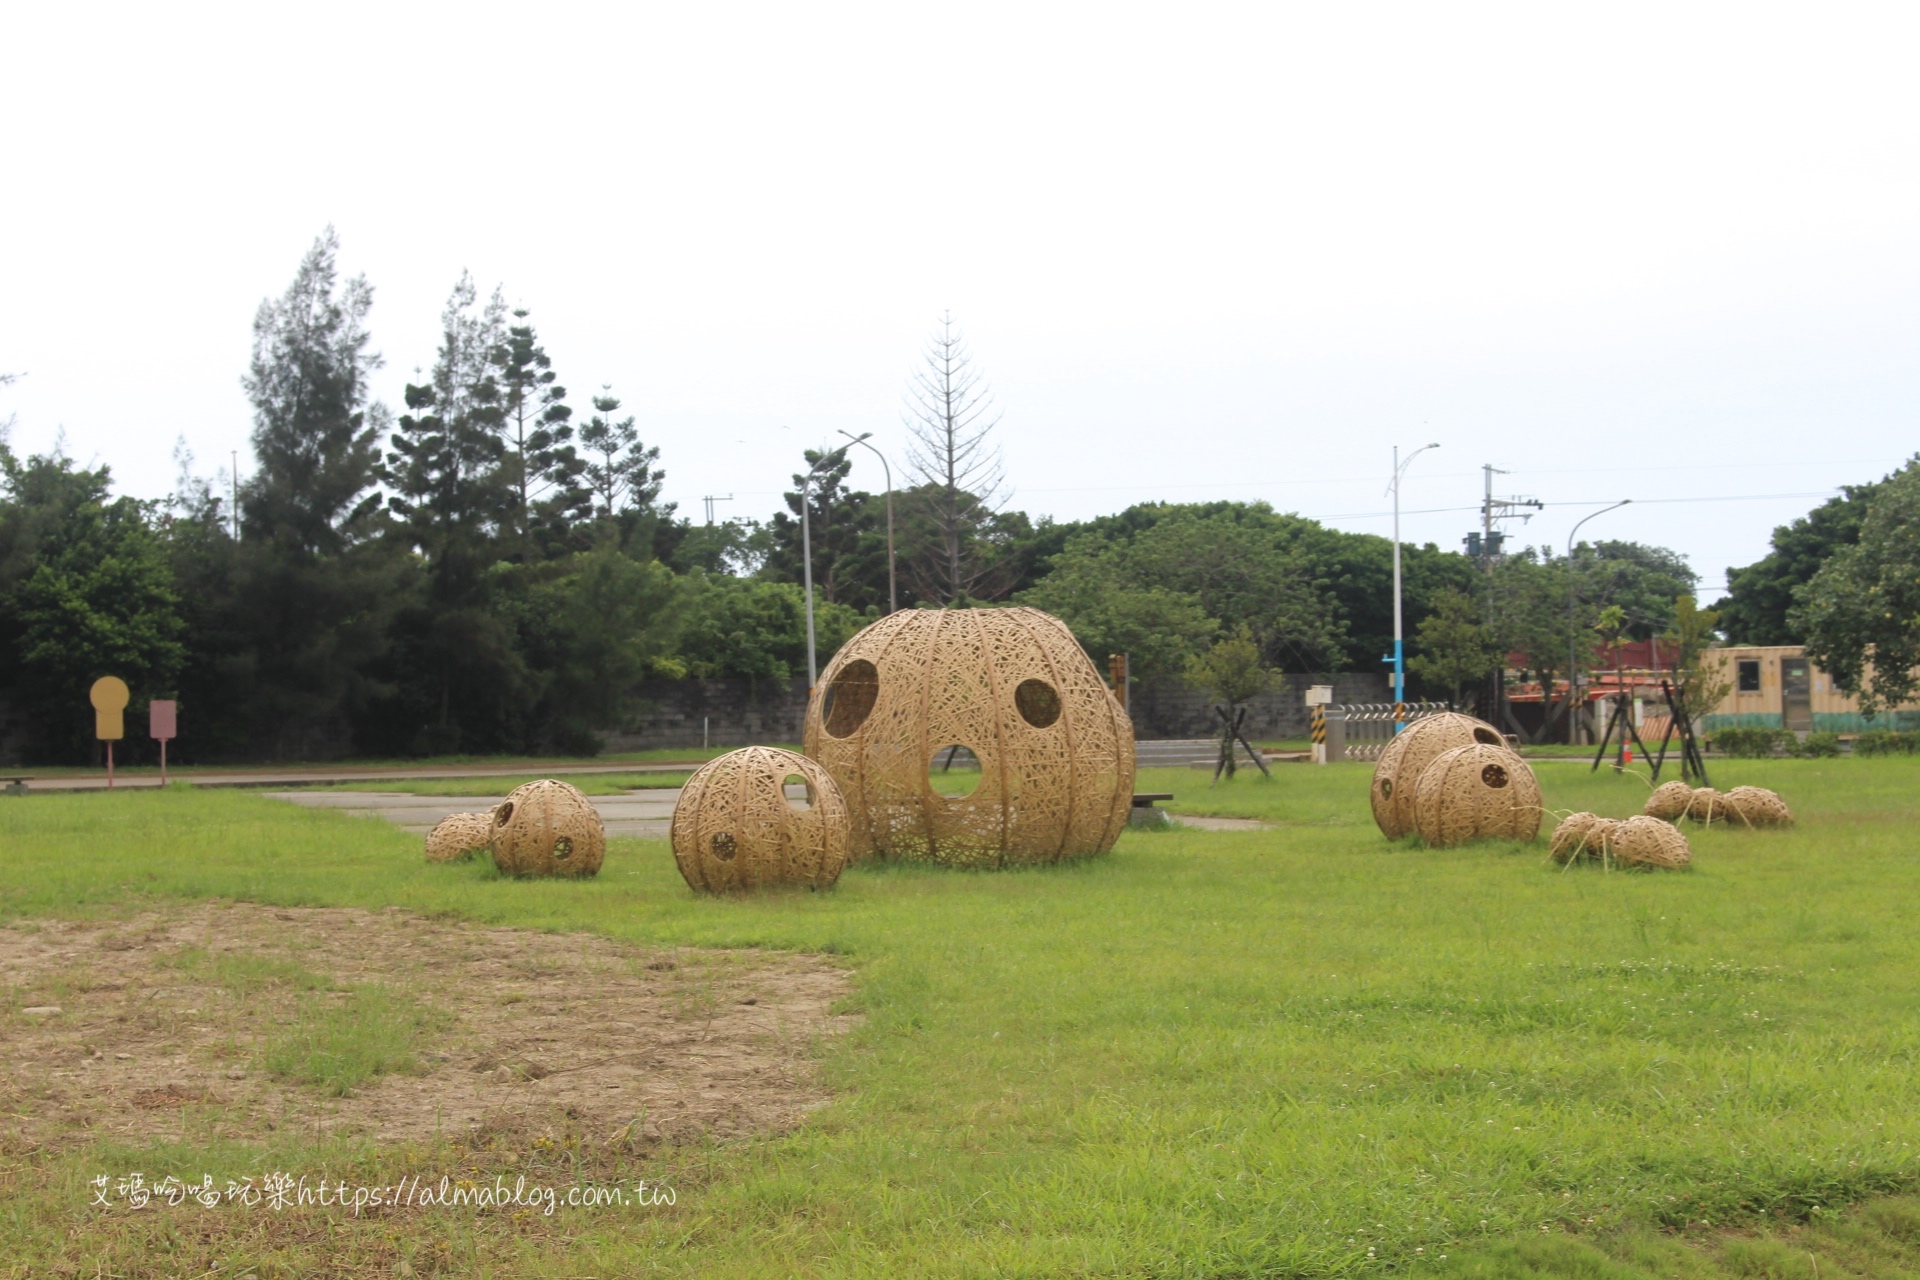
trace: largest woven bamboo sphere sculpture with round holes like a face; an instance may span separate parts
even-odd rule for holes
[[[929,779],[954,747],[979,762],[966,796]],[[854,860],[1104,854],[1133,808],[1133,722],[1037,608],[906,608],[866,628],[820,674],[806,754],[847,796]]]

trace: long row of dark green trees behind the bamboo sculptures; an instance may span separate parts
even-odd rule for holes
[[[148,503],[115,497],[106,468],[0,443],[0,647],[29,750],[84,758],[84,689],[104,672],[136,699],[180,699],[180,747],[202,760],[591,750],[651,677],[785,685],[804,670],[803,491],[822,652],[889,606],[885,497],[851,487],[845,451],[808,453],[812,484],[795,474],[764,524],[693,524],[660,501],[660,451],[612,390],[576,411],[499,292],[459,280],[397,415],[371,397],[371,307],[332,232],[261,303],[244,376],[255,468],[236,509],[184,453],[173,497]],[[1029,520],[1006,507],[995,422],[943,320],[906,403],[902,608],[1035,604],[1144,677],[1190,670],[1223,637],[1271,668],[1380,670],[1388,539],[1260,503]],[[1490,654],[1561,670],[1567,626],[1603,604],[1655,633],[1692,587],[1678,557],[1636,543],[1492,572],[1434,545],[1404,557],[1415,670],[1440,693]]]

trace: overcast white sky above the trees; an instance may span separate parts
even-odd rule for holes
[[[248,470],[332,223],[399,401],[461,269],[764,516],[952,309],[1014,505],[1267,499],[1455,545],[1482,462],[1709,589],[1920,445],[1914,6],[15,6],[0,420]],[[866,474],[874,472],[874,474]],[[879,487],[877,466],[856,480]],[[1753,495],[1784,495],[1759,497]],[[1726,499],[1726,501],[1715,501]],[[1438,510],[1436,510],[1438,509]]]

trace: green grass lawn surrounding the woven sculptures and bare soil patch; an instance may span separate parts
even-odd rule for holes
[[[1624,816],[1647,793],[1571,764],[1538,775],[1557,810]],[[657,1159],[670,1211],[196,1236],[84,1209],[84,1178],[438,1157],[300,1136],[27,1151],[0,1174],[0,1257],[188,1274],[215,1255],[261,1276],[409,1257],[413,1274],[541,1276],[1914,1274],[1920,1211],[1887,1196],[1920,1184],[1920,762],[1726,762],[1715,781],[1778,789],[1801,825],[1693,829],[1686,873],[1561,871],[1544,842],[1388,844],[1365,766],[1219,787],[1158,770],[1139,789],[1173,791],[1175,812],[1273,829],[1137,833],[1020,873],[858,867],[833,892],[753,900],[695,898],[660,842],[614,841],[597,881],[515,883],[253,794],[6,798],[8,917],[248,898],[828,950],[866,1019],[826,1050],[839,1100],[804,1128]]]

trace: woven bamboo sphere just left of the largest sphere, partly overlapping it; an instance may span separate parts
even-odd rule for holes
[[[806,787],[804,798],[787,793],[789,779]],[[674,862],[693,889],[828,889],[847,865],[847,802],[806,756],[743,747],[687,779],[672,835]]]

